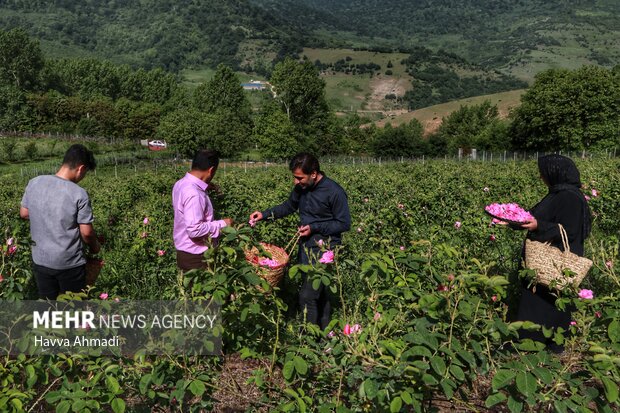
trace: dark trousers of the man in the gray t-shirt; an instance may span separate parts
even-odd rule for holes
[[[33,263],[32,272],[39,289],[39,298],[44,300],[55,300],[59,294],[67,291],[78,293],[86,288],[86,265],[55,270]]]

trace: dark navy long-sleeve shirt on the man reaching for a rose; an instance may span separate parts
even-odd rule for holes
[[[301,225],[310,225],[312,234],[331,239],[333,243],[339,244],[342,233],[351,228],[347,194],[325,175],[311,188],[295,186],[285,202],[262,214],[265,219],[278,219],[297,210]]]

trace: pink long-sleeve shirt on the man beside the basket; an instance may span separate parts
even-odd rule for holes
[[[217,238],[224,220],[213,220],[213,205],[207,195],[208,184],[190,173],[172,188],[174,229],[172,237],[178,251],[202,254],[209,238]]]

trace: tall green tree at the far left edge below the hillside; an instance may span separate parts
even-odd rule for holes
[[[39,42],[31,40],[25,30],[0,30],[0,83],[33,90],[43,64]]]

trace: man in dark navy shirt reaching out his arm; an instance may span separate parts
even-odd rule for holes
[[[295,187],[284,203],[263,212],[254,211],[250,221],[278,219],[299,210],[301,225],[298,261],[309,264],[320,256],[322,242],[328,247],[339,245],[342,233],[351,227],[347,194],[336,182],[329,179],[319,167],[318,159],[309,153],[295,155],[289,164]],[[299,292],[299,305],[306,311],[306,321],[327,327],[331,319],[331,304],[323,284],[312,288],[306,274]]]

